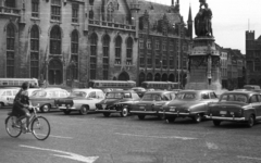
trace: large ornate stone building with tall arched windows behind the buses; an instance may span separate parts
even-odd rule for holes
[[[0,77],[82,87],[185,78],[192,21],[184,27],[178,0],[0,0]]]

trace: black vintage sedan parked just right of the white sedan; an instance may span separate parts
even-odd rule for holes
[[[96,111],[103,113],[105,117],[111,113],[120,113],[125,117],[129,114],[129,106],[139,100],[139,96],[133,90],[114,90],[108,92],[105,99],[96,104]]]

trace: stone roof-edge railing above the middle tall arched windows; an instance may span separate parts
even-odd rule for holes
[[[100,26],[100,27],[111,27],[111,28],[119,28],[125,30],[135,30],[136,26],[127,25],[127,24],[120,24],[114,22],[103,22],[98,20],[89,20],[89,25]]]

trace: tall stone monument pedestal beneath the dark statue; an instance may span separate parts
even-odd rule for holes
[[[206,36],[194,39],[185,89],[211,89],[217,91],[222,89],[220,53],[215,49],[213,37]]]

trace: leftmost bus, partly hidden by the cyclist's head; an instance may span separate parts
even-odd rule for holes
[[[23,83],[28,82],[30,88],[38,88],[39,83],[36,78],[0,78],[0,87],[21,87]]]

